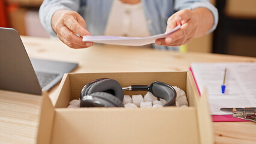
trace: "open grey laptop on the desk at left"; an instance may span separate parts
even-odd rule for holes
[[[41,95],[76,67],[73,62],[29,59],[19,33],[0,28],[0,89]]]

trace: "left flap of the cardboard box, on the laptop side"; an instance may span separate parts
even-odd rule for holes
[[[46,92],[43,92],[43,103],[41,105],[40,123],[38,127],[37,143],[50,143],[52,125],[54,118],[54,107]]]

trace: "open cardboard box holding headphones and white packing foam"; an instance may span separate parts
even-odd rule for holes
[[[67,109],[92,80],[108,77],[121,86],[148,85],[157,80],[183,89],[189,107]],[[199,97],[190,72],[69,73],[56,103],[44,97],[37,143],[214,143],[206,95]],[[145,94],[124,91],[124,94]]]

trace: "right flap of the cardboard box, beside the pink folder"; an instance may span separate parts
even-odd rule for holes
[[[197,86],[195,85],[192,73],[187,72],[187,80],[190,81],[191,85],[187,85],[187,91],[194,92],[196,98],[188,98],[189,104],[197,107],[197,117],[198,117],[198,129],[200,135],[200,143],[214,143],[213,136],[213,125],[212,118],[210,116],[209,105],[207,101],[207,92],[203,92],[203,95],[199,95],[197,91]]]

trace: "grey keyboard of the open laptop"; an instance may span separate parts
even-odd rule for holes
[[[40,83],[41,88],[50,83],[53,79],[55,79],[59,73],[49,73],[44,71],[35,71],[37,74],[38,81]]]

